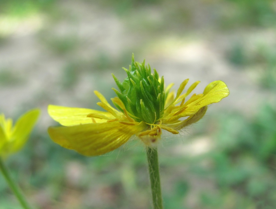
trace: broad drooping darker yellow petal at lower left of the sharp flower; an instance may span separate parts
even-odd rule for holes
[[[86,156],[102,155],[127,142],[145,128],[145,124],[126,125],[119,121],[77,126],[49,127],[51,139],[67,149]]]

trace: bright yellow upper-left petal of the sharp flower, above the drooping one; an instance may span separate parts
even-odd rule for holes
[[[103,112],[99,110],[92,110],[86,108],[63,107],[56,105],[49,105],[48,113],[55,121],[59,122],[63,126],[73,126],[79,124],[92,123],[92,118],[87,117],[87,115],[89,115],[90,113],[104,115],[105,117],[110,119],[115,118],[109,112]],[[107,121],[99,118],[94,119],[97,123]]]

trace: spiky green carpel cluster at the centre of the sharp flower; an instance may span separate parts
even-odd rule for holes
[[[163,76],[159,81],[156,70],[153,69],[152,74],[150,65],[145,66],[145,60],[142,63],[135,62],[134,55],[129,70],[123,69],[128,77],[122,83],[112,74],[121,92],[114,88],[113,90],[126,110],[137,122],[145,121],[150,124],[158,122],[163,116],[165,105]],[[123,112],[118,104],[115,105]]]

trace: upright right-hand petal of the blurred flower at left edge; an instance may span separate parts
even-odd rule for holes
[[[38,119],[40,110],[33,109],[22,115],[13,128],[11,137],[9,139],[10,152],[17,152],[26,143],[28,136],[30,135],[35,123]]]

